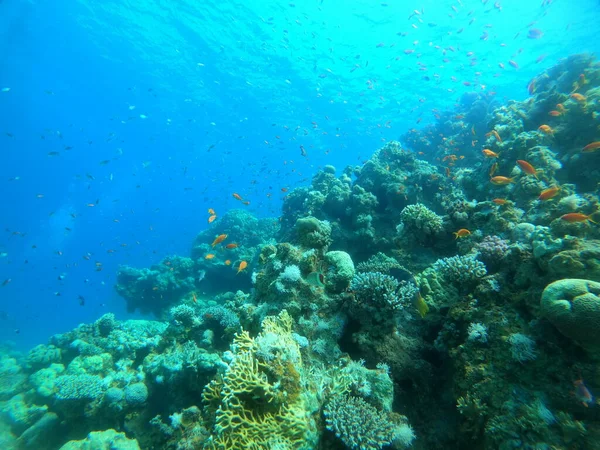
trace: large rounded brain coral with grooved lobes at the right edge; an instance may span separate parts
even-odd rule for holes
[[[582,347],[600,351],[600,283],[566,278],[544,289],[541,312]]]

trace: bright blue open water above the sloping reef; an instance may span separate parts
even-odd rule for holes
[[[275,217],[324,164],[360,164],[482,85],[522,100],[600,47],[596,0],[500,3],[1,1],[0,340],[130,317],[118,265],[187,255],[209,207],[244,207],[233,192]]]

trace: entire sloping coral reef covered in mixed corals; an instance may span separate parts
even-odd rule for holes
[[[600,67],[529,93],[122,267],[156,320],[4,349],[2,448],[600,448]]]

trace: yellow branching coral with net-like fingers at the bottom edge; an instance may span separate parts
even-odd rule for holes
[[[267,317],[258,338],[276,334],[278,341],[300,354],[292,336],[292,318],[286,311]],[[222,377],[209,383],[202,394],[207,426],[213,435],[204,448],[210,450],[266,450],[306,447],[309,417],[304,400],[298,395],[301,361],[274,356],[268,364],[257,358],[256,341],[243,331],[231,346],[234,357]],[[289,373],[272,368],[288,367]],[[288,378],[286,378],[288,376]],[[294,383],[296,382],[296,383]],[[292,392],[287,392],[290,390]]]

